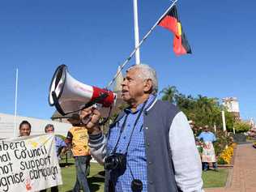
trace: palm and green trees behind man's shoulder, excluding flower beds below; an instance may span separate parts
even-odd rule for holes
[[[221,111],[225,111],[227,129],[233,129],[234,117],[232,113],[228,113],[223,105],[220,105],[218,98],[210,98],[207,96],[198,95],[186,96],[177,91],[174,86],[164,88],[162,100],[169,100],[174,105],[177,105],[183,111],[188,119],[195,122],[195,126],[210,126],[214,125],[222,127]]]

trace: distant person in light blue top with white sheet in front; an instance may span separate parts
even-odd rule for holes
[[[198,135],[198,139],[203,141],[203,171],[207,171],[209,169],[209,163],[212,163],[213,169],[218,171],[215,150],[213,147],[213,143],[216,141],[215,134],[209,130],[209,126],[204,126],[203,132]]]

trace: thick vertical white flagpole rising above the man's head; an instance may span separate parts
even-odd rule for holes
[[[139,22],[138,22],[138,3],[134,0],[134,41],[135,48],[139,46]],[[139,48],[135,52],[136,65],[140,63]]]

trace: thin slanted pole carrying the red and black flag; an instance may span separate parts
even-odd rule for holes
[[[121,70],[126,66],[126,64],[130,61],[130,59],[134,56],[134,53],[137,51],[137,49],[139,49],[139,47],[143,44],[143,42],[147,39],[147,36],[149,36],[151,34],[151,32],[156,28],[156,25],[160,22],[161,19],[163,19],[164,15],[166,15],[168,13],[168,11],[170,9],[173,8],[174,4],[177,2],[177,0],[174,0],[173,3],[171,4],[171,6],[169,6],[169,8],[164,12],[163,15],[160,16],[160,19],[158,19],[156,21],[156,23],[153,25],[153,27],[151,27],[151,29],[147,32],[147,34],[143,37],[142,41],[139,42],[139,45],[135,47],[135,49],[130,53],[129,57],[126,58],[126,61],[122,63],[122,65],[120,66]],[[120,73],[120,72],[119,72]],[[113,79],[109,82],[108,86],[106,87],[106,89],[109,89],[109,87],[113,84],[113,82],[115,81],[115,79],[117,79],[117,76],[119,75],[119,73],[117,73]]]

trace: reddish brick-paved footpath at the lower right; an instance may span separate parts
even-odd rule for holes
[[[252,144],[237,145],[231,185],[205,189],[206,192],[256,192],[256,149]]]

